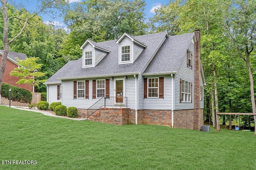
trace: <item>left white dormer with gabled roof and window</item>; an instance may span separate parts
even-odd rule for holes
[[[110,52],[92,40],[86,40],[80,49],[83,50],[83,68],[95,67]]]

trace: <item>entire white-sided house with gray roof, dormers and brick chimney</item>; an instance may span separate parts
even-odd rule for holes
[[[77,107],[91,121],[200,130],[206,83],[199,30],[124,33],[118,40],[86,40],[81,49],[80,59],[44,83],[49,103]]]

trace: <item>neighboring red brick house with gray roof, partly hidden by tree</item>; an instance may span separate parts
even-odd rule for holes
[[[2,59],[2,54],[3,54],[3,50],[0,49],[0,63],[1,63],[1,59]],[[16,87],[20,87],[23,89],[27,89],[30,92],[32,92],[32,85],[28,85],[28,84],[16,84],[16,82],[20,79],[18,77],[14,77],[14,76],[10,76],[10,72],[14,70],[14,68],[18,67],[17,61],[15,59],[15,57],[18,57],[21,60],[26,59],[27,55],[24,53],[16,53],[16,52],[12,52],[9,51],[8,55],[7,55],[7,59],[6,59],[6,66],[5,66],[5,70],[4,70],[4,77],[3,77],[3,83],[8,83],[10,85],[16,86]]]

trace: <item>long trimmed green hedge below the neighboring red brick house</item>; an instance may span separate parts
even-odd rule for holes
[[[9,98],[9,89],[11,89],[11,100],[22,103],[31,103],[32,93],[26,89],[15,87],[7,83],[2,83],[1,95],[2,97]]]

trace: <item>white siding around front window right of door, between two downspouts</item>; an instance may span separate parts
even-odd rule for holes
[[[148,78],[147,76],[144,76]],[[158,77],[164,77],[164,98],[148,97],[144,99],[143,109],[172,109],[172,77],[170,75],[158,75]],[[150,76],[152,78],[152,76]],[[143,90],[142,90],[143,92]]]

